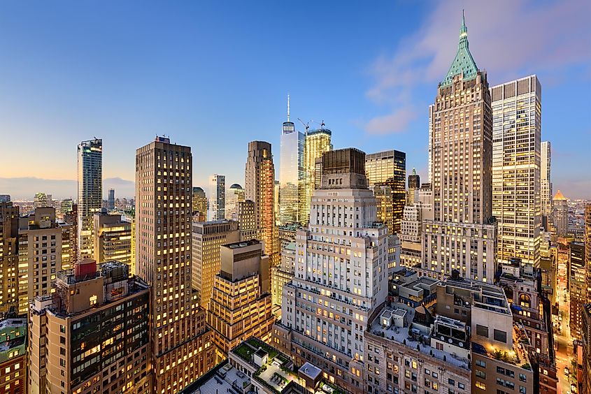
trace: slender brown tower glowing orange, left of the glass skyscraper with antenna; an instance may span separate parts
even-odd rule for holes
[[[257,239],[263,241],[271,266],[278,265],[279,234],[275,223],[275,166],[271,144],[263,141],[248,143],[245,181],[245,197],[255,203]]]

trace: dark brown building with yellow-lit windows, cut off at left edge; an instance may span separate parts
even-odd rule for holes
[[[0,203],[0,315],[18,307],[18,214],[18,206]]]

